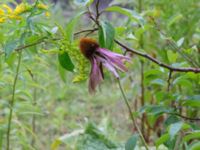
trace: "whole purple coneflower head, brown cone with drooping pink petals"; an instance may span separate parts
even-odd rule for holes
[[[91,72],[89,79],[89,92],[95,92],[97,85],[103,80],[103,66],[119,78],[117,70],[127,71],[123,61],[130,61],[130,58],[105,48],[99,47],[99,44],[91,38],[82,38],[80,40],[80,50],[82,54],[89,59],[91,63]]]

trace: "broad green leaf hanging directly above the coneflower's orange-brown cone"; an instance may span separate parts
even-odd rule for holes
[[[114,44],[115,29],[109,22],[101,22],[99,29],[99,43],[103,48],[112,50]]]

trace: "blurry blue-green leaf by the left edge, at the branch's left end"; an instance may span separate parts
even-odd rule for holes
[[[17,48],[18,40],[8,41],[4,46],[4,51],[6,54],[6,58],[10,56],[10,54]]]

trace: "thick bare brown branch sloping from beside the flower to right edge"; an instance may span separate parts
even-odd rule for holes
[[[191,67],[188,67],[188,68],[176,68],[176,67],[172,67],[170,65],[167,65],[167,64],[164,64],[162,62],[160,62],[159,60],[153,58],[152,56],[148,55],[148,54],[145,54],[145,53],[142,53],[142,52],[139,52],[139,51],[136,51],[135,49],[133,48],[130,48],[130,47],[127,47],[125,44],[119,42],[118,40],[115,40],[115,42],[123,47],[126,51],[128,52],[131,52],[131,53],[134,53],[136,55],[139,55],[141,57],[144,57],[152,62],[154,62],[155,64],[163,67],[163,68],[166,68],[170,71],[174,71],[174,72],[194,72],[194,73],[200,73],[200,68],[191,68]]]

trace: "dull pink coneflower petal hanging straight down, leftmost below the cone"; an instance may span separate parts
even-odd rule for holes
[[[90,59],[91,62],[91,72],[90,72],[90,79],[89,79],[89,92],[95,92],[97,85],[103,80],[102,72],[100,69],[100,62],[97,61],[95,57]]]

